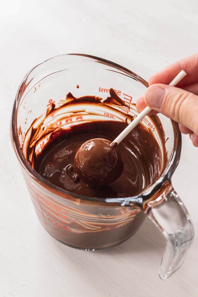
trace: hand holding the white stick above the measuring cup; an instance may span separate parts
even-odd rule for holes
[[[181,71],[187,75],[177,87],[167,84]],[[189,134],[198,147],[198,53],[175,62],[154,74],[149,80],[146,93],[136,103],[138,112],[146,106],[149,114],[162,113],[179,123],[180,131]]]

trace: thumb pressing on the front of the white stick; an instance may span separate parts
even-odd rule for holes
[[[157,83],[147,89],[144,100],[153,110],[183,124],[198,135],[198,96]]]

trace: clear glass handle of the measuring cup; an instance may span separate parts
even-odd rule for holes
[[[183,264],[193,241],[194,228],[186,207],[170,183],[156,200],[147,203],[145,212],[167,240],[159,267],[159,276],[167,279]]]

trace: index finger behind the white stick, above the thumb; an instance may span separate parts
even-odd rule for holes
[[[198,53],[177,61],[152,75],[149,79],[149,86],[154,83],[164,83],[168,85],[181,70],[184,70],[187,75],[178,83],[178,87],[188,85],[189,83],[195,83],[198,80],[197,69]]]

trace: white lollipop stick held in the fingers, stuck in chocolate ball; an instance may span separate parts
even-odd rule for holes
[[[184,78],[184,76],[186,75],[186,72],[184,70],[181,70],[178,75],[175,76],[175,78],[173,78],[173,80],[170,82],[169,86],[176,86],[180,80],[182,80],[182,78]],[[139,113],[139,115],[120,133],[120,135],[118,135],[118,137],[115,138],[115,140],[112,141],[111,145],[113,145],[113,143],[120,143],[125,137],[126,135],[129,134],[129,132],[131,132],[131,130],[133,128],[135,128],[135,126],[137,126],[138,123],[140,123],[140,121],[151,111],[150,107],[146,107],[145,109],[143,109],[141,111],[141,113]]]

